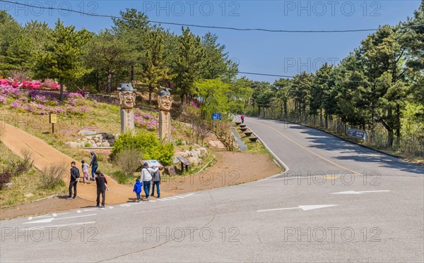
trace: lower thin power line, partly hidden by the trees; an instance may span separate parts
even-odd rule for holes
[[[1,49],[19,49],[19,50],[26,50],[26,51],[33,51],[33,49],[25,49],[25,48],[20,48],[20,47],[4,47],[4,46],[0,46],[0,50]],[[66,55],[64,53],[60,53],[60,52],[54,52],[54,51],[47,51],[47,50],[36,50],[35,52],[43,52],[43,53],[51,53],[51,54],[59,54],[59,55]],[[126,62],[131,62],[133,63],[134,61],[129,61],[126,59],[121,59],[119,61],[126,61]],[[175,67],[175,65],[166,65],[167,67]],[[179,66],[181,68],[187,69],[186,67],[183,66]],[[196,70],[199,71],[205,71],[206,72],[206,68],[195,68]],[[231,70],[218,70],[218,72],[220,73],[235,73],[235,74],[245,74],[245,75],[261,75],[261,76],[265,76],[265,77],[277,77],[277,78],[295,78],[295,75],[278,75],[278,74],[269,74],[269,73],[257,73],[257,72],[247,72],[247,71],[231,71]],[[331,79],[331,78],[317,78],[312,76],[312,79],[314,80],[323,80],[323,81],[341,81],[341,82],[355,82],[355,83],[366,83],[366,84],[385,84],[385,85],[392,85],[392,84],[399,84],[399,85],[404,85],[404,86],[408,86],[408,85],[416,85],[416,86],[424,86],[424,84],[420,84],[420,83],[406,83],[406,82],[396,82],[396,83],[389,83],[389,82],[378,82],[378,81],[365,81],[365,80],[339,80],[339,79]]]

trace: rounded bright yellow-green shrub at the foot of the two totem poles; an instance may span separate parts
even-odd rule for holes
[[[113,145],[112,159],[116,159],[124,149],[136,149],[143,152],[144,159],[157,159],[164,166],[172,164],[172,157],[174,156],[174,145],[172,143],[162,144],[155,133],[146,131],[141,131],[135,135],[131,133],[119,135]]]

